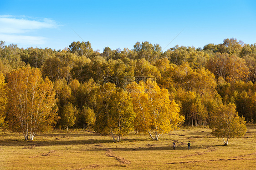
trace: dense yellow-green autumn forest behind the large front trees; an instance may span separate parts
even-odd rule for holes
[[[230,103],[247,122],[256,120],[256,44],[234,38],[203,49],[176,45],[165,52],[148,41],[137,42],[132,50],[106,47],[102,53],[93,51],[90,42],[72,42],[58,51],[0,42],[4,77],[27,65],[53,82],[59,116],[56,128],[60,129],[93,126],[102,110],[99,107],[106,105],[98,95],[107,82],[125,90],[128,80],[146,83],[148,78],[169,92],[168,101],[179,106],[185,125],[208,125],[216,108]]]

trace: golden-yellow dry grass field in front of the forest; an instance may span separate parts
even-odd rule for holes
[[[244,137],[231,138],[229,146],[206,127],[175,130],[159,141],[131,134],[121,143],[84,130],[41,133],[33,141],[0,131],[0,170],[255,170],[256,126],[247,129]]]

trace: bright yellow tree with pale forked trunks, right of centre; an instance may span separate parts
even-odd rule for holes
[[[135,130],[147,132],[152,140],[158,140],[159,135],[177,129],[184,122],[184,116],[179,115],[179,106],[169,100],[168,90],[160,89],[154,81],[147,80],[139,85],[133,82],[126,89],[133,98]]]

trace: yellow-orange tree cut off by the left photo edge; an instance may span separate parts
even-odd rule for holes
[[[7,101],[5,84],[5,77],[0,72],[0,126],[5,121],[5,106]]]

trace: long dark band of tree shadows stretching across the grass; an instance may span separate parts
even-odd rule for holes
[[[99,135],[101,136],[101,135]],[[68,145],[87,145],[89,146],[85,150],[89,151],[98,151],[98,149],[104,149],[105,146],[101,144],[113,144],[113,140],[111,139],[111,136],[108,136],[109,139],[79,139],[79,140],[74,140],[74,139],[67,139],[68,137],[65,138],[56,138],[54,140],[0,140],[0,146],[68,146]],[[173,150],[173,146],[170,143],[169,145],[164,145],[164,146],[158,146],[158,143],[153,140],[148,140],[148,139],[124,139],[124,145],[127,145],[129,142],[139,142],[139,141],[145,141],[145,143],[140,143],[136,147],[136,145],[130,145],[130,147],[122,147],[122,143],[117,143],[120,145],[118,146],[112,146],[108,147],[108,149],[111,149],[113,151],[115,150],[122,150],[122,151],[143,151],[143,150]],[[146,142],[147,141],[147,142]],[[161,143],[159,143],[161,144]],[[98,147],[100,146],[100,147]],[[199,149],[206,149],[208,146],[193,146],[191,147],[191,150],[199,150]],[[107,147],[105,147],[106,149]],[[180,145],[176,146],[176,150],[174,151],[179,151],[179,150],[188,150],[188,147],[185,145]]]

